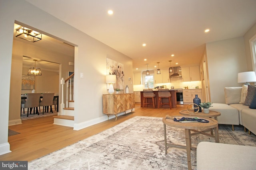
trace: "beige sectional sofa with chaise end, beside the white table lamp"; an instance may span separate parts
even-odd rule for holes
[[[225,103],[214,103],[210,110],[219,111],[221,115],[218,117],[219,124],[243,125],[246,129],[256,134],[256,109],[250,109],[249,106],[244,106],[244,101],[247,96],[247,88],[243,87],[226,87],[224,88]]]

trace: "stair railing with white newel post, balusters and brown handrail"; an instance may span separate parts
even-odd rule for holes
[[[72,100],[72,94],[74,94],[74,88],[72,91],[72,84],[74,83],[74,78],[73,80],[71,79],[72,77],[74,77],[75,73],[71,74],[66,80],[64,80],[64,78],[61,78],[60,80],[60,84],[61,84],[61,104],[60,104],[60,115],[64,115],[64,84],[67,83],[67,88],[66,88],[66,106],[68,107],[68,90],[70,90],[70,94],[69,94],[69,100]],[[74,98],[74,96],[73,96]]]

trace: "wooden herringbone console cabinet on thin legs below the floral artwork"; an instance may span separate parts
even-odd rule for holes
[[[103,94],[103,113],[108,115],[115,115],[117,119],[117,113],[121,113],[128,109],[135,107],[134,93],[128,94]]]

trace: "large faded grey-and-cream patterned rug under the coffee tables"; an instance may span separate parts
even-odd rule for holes
[[[256,146],[256,136],[242,127],[220,125],[220,143]],[[168,143],[185,145],[184,129],[166,126]],[[192,136],[192,145],[214,142],[204,135]],[[191,152],[192,169],[196,169],[196,151]],[[137,116],[68,147],[28,162],[28,169],[44,170],[186,170],[185,149],[164,151],[162,118]]]

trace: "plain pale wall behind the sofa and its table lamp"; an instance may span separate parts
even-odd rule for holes
[[[242,86],[237,82],[238,72],[247,71],[244,38],[232,38],[206,43],[210,100],[225,103],[224,88]]]

